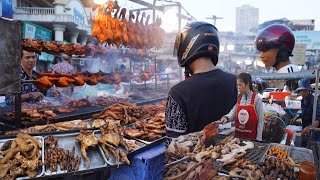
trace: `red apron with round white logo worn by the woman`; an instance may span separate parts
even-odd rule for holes
[[[251,103],[249,105],[240,105],[241,97],[238,97],[236,112],[236,132],[235,136],[244,139],[256,139],[258,115],[254,107],[254,99],[256,94],[253,93]]]

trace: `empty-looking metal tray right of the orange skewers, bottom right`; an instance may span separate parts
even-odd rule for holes
[[[303,161],[314,163],[313,152],[311,149],[290,147],[290,158],[292,158],[296,164],[300,164]]]

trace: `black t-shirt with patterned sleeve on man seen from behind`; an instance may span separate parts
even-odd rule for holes
[[[202,130],[237,102],[236,76],[220,69],[191,76],[171,88],[166,107],[168,137]]]

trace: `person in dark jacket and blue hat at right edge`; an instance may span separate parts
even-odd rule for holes
[[[291,120],[291,124],[295,123],[296,120],[302,119],[302,146],[306,147],[307,141],[310,140],[310,128],[318,128],[320,121],[320,107],[319,103],[316,106],[316,120],[312,124],[312,114],[313,114],[313,103],[314,96],[312,95],[313,88],[310,86],[309,79],[300,79],[298,82],[298,88],[296,91],[302,96],[301,100],[301,110],[302,112],[298,116]]]

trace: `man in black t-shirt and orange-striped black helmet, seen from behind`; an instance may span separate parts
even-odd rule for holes
[[[174,55],[186,79],[171,88],[166,106],[169,138],[202,130],[237,102],[237,81],[218,68],[219,38],[215,26],[187,24],[177,35]]]

